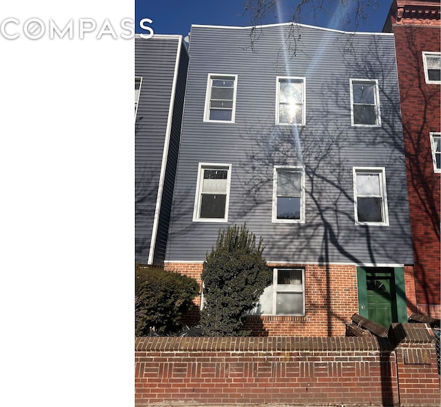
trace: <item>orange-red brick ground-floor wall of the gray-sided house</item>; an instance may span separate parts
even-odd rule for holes
[[[249,316],[245,329],[254,336],[342,336],[345,322],[358,313],[357,273],[355,265],[271,264],[270,267],[305,267],[305,316]],[[203,263],[165,263],[174,270],[196,278],[201,284]],[[185,318],[198,318],[201,298]]]

